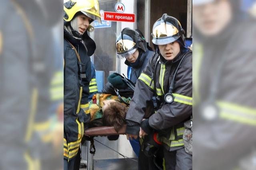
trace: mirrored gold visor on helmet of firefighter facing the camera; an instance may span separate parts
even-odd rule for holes
[[[173,35],[176,35],[178,33],[178,28],[176,28],[174,25],[172,25],[169,22],[162,22],[160,23],[160,25],[157,25],[154,29],[153,29],[153,39],[158,39],[158,38],[162,38],[162,37],[170,37]]]

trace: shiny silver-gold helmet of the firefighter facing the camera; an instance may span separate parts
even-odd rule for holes
[[[185,31],[181,27],[180,22],[172,17],[164,14],[153,25],[152,43],[155,45],[166,45],[180,38],[181,43],[185,46]]]

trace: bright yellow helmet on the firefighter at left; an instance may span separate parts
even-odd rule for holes
[[[77,12],[101,23],[98,0],[64,0],[65,21],[71,21]]]

